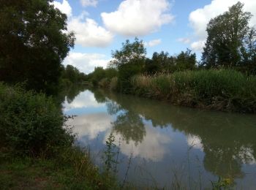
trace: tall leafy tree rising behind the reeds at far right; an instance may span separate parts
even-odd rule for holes
[[[243,54],[249,52],[246,37],[249,35],[250,12],[243,11],[244,4],[238,2],[227,12],[210,20],[208,38],[203,49],[202,64],[207,68],[244,64]]]

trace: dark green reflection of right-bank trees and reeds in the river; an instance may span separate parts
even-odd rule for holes
[[[124,94],[105,92],[110,113],[118,115],[113,123],[116,132],[129,140],[141,142],[146,135],[139,115],[151,121],[153,126],[172,126],[187,135],[200,137],[205,153],[206,170],[224,178],[244,178],[242,164],[252,164],[256,158],[256,117],[230,113],[209,112],[140,99]],[[118,105],[118,106],[117,106]]]

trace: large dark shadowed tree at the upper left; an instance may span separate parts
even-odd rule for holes
[[[75,38],[52,1],[0,0],[0,80],[47,93],[58,85]]]

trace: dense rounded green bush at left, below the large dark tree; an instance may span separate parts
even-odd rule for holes
[[[64,115],[44,94],[0,83],[0,148],[23,156],[53,156],[72,145]]]

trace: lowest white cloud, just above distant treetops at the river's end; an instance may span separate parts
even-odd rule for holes
[[[102,66],[106,67],[110,60],[106,58],[104,54],[99,53],[69,53],[69,56],[64,59],[63,64],[70,64],[75,66],[80,70],[88,74],[89,72],[94,71],[94,67]]]

